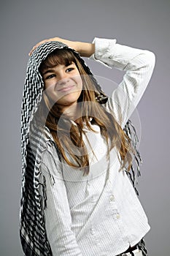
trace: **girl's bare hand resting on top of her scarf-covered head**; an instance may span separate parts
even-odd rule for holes
[[[34,47],[30,50],[30,52],[28,53],[29,56],[31,56],[31,54],[34,52],[34,50],[39,46],[42,45],[45,42],[50,42],[50,41],[59,41],[59,42],[63,42],[65,45],[68,45],[70,48],[73,48],[74,50],[77,50],[77,52],[79,52],[79,42],[74,42],[74,41],[70,41],[70,40],[66,40],[63,39],[61,37],[53,37],[53,38],[49,38],[49,39],[44,39],[40,42],[38,42],[36,45],[34,45]]]

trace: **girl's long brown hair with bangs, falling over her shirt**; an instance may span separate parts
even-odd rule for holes
[[[116,147],[120,155],[121,167],[125,167],[127,164],[127,170],[131,168],[131,142],[123,132],[123,129],[115,120],[114,116],[109,113],[103,105],[96,102],[96,86],[93,83],[93,79],[90,75],[87,75],[82,64],[74,56],[72,50],[69,49],[56,49],[50,53],[45,61],[40,64],[39,72],[47,68],[52,68],[58,64],[76,64],[77,69],[82,76],[82,92],[78,99],[81,105],[81,116],[77,125],[73,125],[72,121],[60,112],[57,103],[51,105],[50,99],[46,94],[43,94],[42,102],[39,106],[39,118],[50,129],[53,139],[58,147],[61,157],[67,164],[72,167],[84,167],[84,174],[89,173],[89,159],[88,151],[85,143],[82,140],[83,124],[86,124],[88,129],[93,131],[93,127],[90,124],[97,124],[100,127],[101,135],[105,138],[109,151]],[[45,117],[45,111],[48,112],[47,118]],[[62,118],[61,118],[62,116]],[[91,122],[90,122],[91,120]],[[94,131],[93,131],[94,132]],[[109,143],[110,141],[110,143]],[[72,147],[74,144],[77,150]]]

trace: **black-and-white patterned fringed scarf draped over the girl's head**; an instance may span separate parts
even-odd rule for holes
[[[101,86],[98,85],[85,61],[75,50],[64,45],[62,42],[55,41],[45,42],[34,50],[28,60],[21,112],[22,189],[20,200],[20,240],[26,256],[53,255],[45,230],[44,209],[47,199],[45,178],[39,171],[41,154],[45,148],[45,137],[51,138],[51,135],[47,127],[36,126],[33,120],[34,114],[41,102],[44,88],[42,76],[39,73],[39,65],[46,59],[49,53],[57,48],[72,50],[82,64],[82,67],[84,67],[85,72],[91,75],[93,79],[93,83],[96,86],[96,101],[101,104],[107,102],[107,96],[101,90]],[[138,138],[131,121],[127,122],[124,130],[134,142],[137,176],[139,176],[139,162],[141,158],[136,148]],[[135,188],[136,175],[133,166],[131,173],[128,172],[128,175]]]

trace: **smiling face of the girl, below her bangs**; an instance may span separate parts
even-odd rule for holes
[[[69,66],[58,64],[47,68],[43,71],[42,78],[47,96],[57,103],[61,111],[77,105],[82,91],[82,78],[74,62]]]

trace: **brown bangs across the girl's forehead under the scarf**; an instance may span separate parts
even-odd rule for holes
[[[53,68],[58,65],[65,65],[67,67],[72,64],[72,62],[77,65],[76,57],[71,50],[56,49],[47,56],[45,61],[42,61],[39,66],[39,72],[42,73],[45,69]]]

